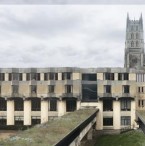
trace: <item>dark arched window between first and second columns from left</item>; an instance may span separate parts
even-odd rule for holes
[[[14,107],[15,111],[23,111],[24,110],[24,101],[22,98],[15,98],[14,99]]]

